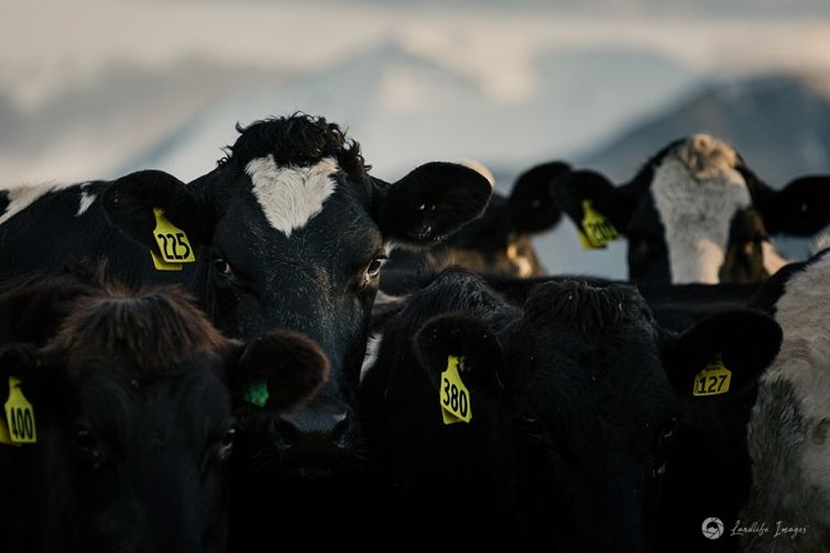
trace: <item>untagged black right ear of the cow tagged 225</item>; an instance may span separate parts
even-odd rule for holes
[[[375,179],[372,218],[384,239],[428,246],[481,217],[492,191],[469,167],[428,163],[392,185]]]

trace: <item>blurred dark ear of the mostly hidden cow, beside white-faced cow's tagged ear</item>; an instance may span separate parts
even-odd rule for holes
[[[569,170],[567,163],[551,162],[518,176],[507,198],[511,226],[515,232],[531,234],[556,226],[561,211],[554,198],[554,180]]]

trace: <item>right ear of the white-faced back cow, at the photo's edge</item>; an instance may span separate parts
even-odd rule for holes
[[[801,177],[758,206],[771,234],[809,236],[830,224],[830,176]]]

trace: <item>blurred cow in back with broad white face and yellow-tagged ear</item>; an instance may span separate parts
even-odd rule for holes
[[[557,180],[555,193],[580,232],[590,202],[627,239],[635,281],[761,281],[786,263],[771,235],[810,235],[830,223],[830,177],[775,191],[732,146],[706,134],[673,142],[619,187],[577,170]]]

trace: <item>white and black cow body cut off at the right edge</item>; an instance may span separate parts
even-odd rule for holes
[[[745,552],[830,543],[830,252],[788,265],[755,298],[784,330],[749,423],[752,488],[738,532]],[[766,531],[760,531],[766,528]]]

